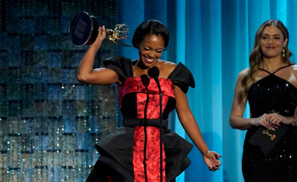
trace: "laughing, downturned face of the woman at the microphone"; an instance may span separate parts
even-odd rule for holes
[[[162,36],[147,35],[138,47],[139,62],[145,67],[152,67],[162,56],[164,49],[164,38]]]

